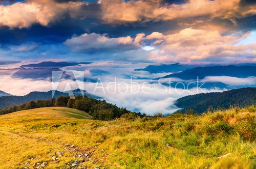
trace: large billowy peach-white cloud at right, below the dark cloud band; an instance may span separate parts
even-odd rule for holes
[[[196,63],[219,58],[220,62],[255,62],[256,44],[237,45],[250,33],[222,35],[218,31],[187,28],[176,34],[154,32],[141,38],[151,40],[151,60]]]

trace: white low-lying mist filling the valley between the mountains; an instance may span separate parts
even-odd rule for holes
[[[19,65],[25,63],[19,63]],[[145,71],[134,71],[147,64],[131,64],[125,62],[98,62],[81,66],[69,66],[63,68],[67,74],[75,74],[77,81],[62,79],[60,83],[50,79],[31,79],[11,77],[16,70],[1,70],[0,89],[14,94],[25,95],[32,91],[49,91],[57,89],[60,91],[84,89],[89,93],[104,98],[106,101],[129,110],[140,111],[147,115],[158,113],[170,114],[178,110],[174,101],[180,97],[206,92],[220,92],[226,89],[218,87],[205,89],[205,86],[192,89],[175,89],[164,86],[163,82],[153,78],[163,76],[165,73],[151,74]],[[16,65],[18,66],[18,65]],[[94,73],[91,72],[94,71]],[[102,70],[102,71],[99,71]],[[108,73],[103,73],[106,72]],[[97,73],[98,72],[98,73]],[[137,78],[136,78],[137,77]],[[140,77],[140,78],[138,78]],[[82,79],[95,79],[96,82],[84,82]],[[205,77],[201,82],[223,82],[235,88],[236,86],[250,86],[255,84],[255,77],[237,78],[229,76]],[[179,81],[179,79],[172,79]],[[187,81],[195,82],[197,81]],[[6,85],[6,84],[9,85]]]

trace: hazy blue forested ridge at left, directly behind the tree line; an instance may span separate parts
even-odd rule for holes
[[[31,92],[25,96],[3,96],[0,97],[0,109],[11,107],[13,105],[19,105],[23,103],[28,103],[30,101],[36,100],[50,100],[52,98],[52,92]],[[75,96],[81,96],[81,91],[79,89],[73,91]],[[56,99],[59,96],[69,96],[68,92],[59,92],[55,91],[54,98]],[[100,99],[100,97],[87,93],[84,91],[84,96],[88,96],[95,99]]]

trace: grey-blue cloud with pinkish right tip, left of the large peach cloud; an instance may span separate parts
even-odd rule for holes
[[[82,34],[64,42],[75,52],[122,51],[140,47],[131,36],[110,38],[106,34]]]

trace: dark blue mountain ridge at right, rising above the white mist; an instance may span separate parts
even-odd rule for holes
[[[256,76],[256,66],[209,66],[196,67],[180,73],[173,73],[162,78],[176,77],[183,80],[203,79],[206,76],[232,76],[232,77],[250,77]],[[159,79],[159,78],[158,78]]]

